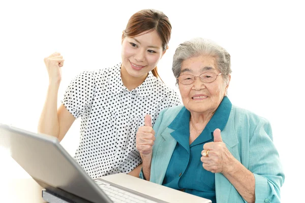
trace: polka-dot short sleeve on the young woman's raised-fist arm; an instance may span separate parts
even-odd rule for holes
[[[77,119],[90,111],[95,96],[95,77],[92,72],[82,72],[66,89],[62,104]]]

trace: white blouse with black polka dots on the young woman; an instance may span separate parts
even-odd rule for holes
[[[151,72],[129,91],[121,80],[120,64],[81,73],[62,100],[75,118],[81,117],[75,160],[92,178],[131,172],[142,162],[135,136],[144,116],[150,114],[154,125],[161,110],[180,104],[177,93]]]

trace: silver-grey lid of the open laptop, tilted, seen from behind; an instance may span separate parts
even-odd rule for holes
[[[0,140],[0,146],[9,149],[12,158],[43,188],[59,195],[66,191],[81,202],[112,202],[57,138],[0,123]]]

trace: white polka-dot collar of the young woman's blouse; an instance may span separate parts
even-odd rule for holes
[[[128,91],[121,79],[120,68],[121,62],[117,65],[117,68],[112,70],[112,74],[110,74],[111,78],[109,79],[109,88],[114,94],[118,94],[120,92],[123,92],[124,90]],[[153,73],[151,73],[151,71],[149,71],[148,76],[146,77],[144,82],[132,91],[136,92],[141,97],[147,97],[150,92],[153,91],[155,86],[155,76],[153,75]]]

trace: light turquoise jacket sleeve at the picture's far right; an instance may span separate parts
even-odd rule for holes
[[[250,140],[249,170],[255,177],[256,202],[280,202],[285,176],[270,123],[265,119],[259,121]]]

